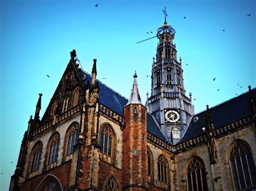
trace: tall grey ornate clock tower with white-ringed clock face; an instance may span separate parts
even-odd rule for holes
[[[188,120],[194,115],[192,94],[188,98],[183,82],[181,58],[177,61],[176,31],[166,22],[157,30],[156,59],[153,57],[151,96],[147,98],[147,111],[158,121],[161,131],[171,142],[180,139],[180,132],[187,128]]]

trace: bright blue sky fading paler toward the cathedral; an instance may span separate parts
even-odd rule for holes
[[[126,98],[137,70],[145,103],[158,39],[136,42],[156,35],[165,5],[196,113],[256,86],[254,0],[0,0],[0,190],[9,189],[38,93],[42,117],[73,48],[88,73],[97,58],[97,79]]]

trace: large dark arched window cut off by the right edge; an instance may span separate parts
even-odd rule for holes
[[[250,148],[243,142],[235,142],[230,153],[230,168],[235,190],[256,185],[254,160]]]

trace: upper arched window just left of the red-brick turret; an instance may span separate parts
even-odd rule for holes
[[[112,155],[112,132],[109,126],[104,126],[100,131],[100,152],[111,157]]]

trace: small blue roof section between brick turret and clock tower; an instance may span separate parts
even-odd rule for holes
[[[147,112],[147,131],[153,134],[154,136],[157,136],[159,139],[166,140],[165,136],[159,129],[159,126],[157,125],[156,119]]]

